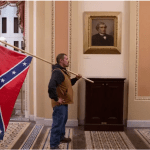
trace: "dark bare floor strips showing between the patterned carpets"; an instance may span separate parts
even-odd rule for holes
[[[15,121],[15,120],[11,120]],[[16,120],[18,121],[18,120]],[[20,120],[19,120],[20,121]],[[13,146],[13,149],[19,149],[25,138],[27,137],[28,133],[32,130],[33,126],[35,125],[35,122],[31,122],[30,126],[27,128],[27,130],[24,132],[24,134],[21,136],[21,138],[17,141],[17,143]],[[44,133],[46,132],[46,129],[48,126],[44,126],[42,129],[42,132],[35,143],[33,149],[38,149],[39,147],[39,141],[43,139]],[[84,126],[77,126],[73,127],[73,149],[85,149],[86,143],[85,143],[85,135],[84,135]],[[147,145],[142,141],[142,139],[135,133],[135,128],[125,128],[125,133],[132,142],[132,144],[135,146],[136,149],[149,149]]]

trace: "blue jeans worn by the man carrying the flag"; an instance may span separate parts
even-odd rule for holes
[[[65,125],[68,119],[68,105],[53,108],[53,124],[51,129],[50,147],[58,146],[65,136]]]

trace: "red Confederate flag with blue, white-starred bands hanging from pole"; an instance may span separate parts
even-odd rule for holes
[[[0,140],[3,140],[31,61],[31,56],[0,46]]]

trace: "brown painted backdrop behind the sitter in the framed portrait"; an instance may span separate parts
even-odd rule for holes
[[[114,19],[92,19],[92,32],[91,34],[97,34],[96,25],[99,22],[104,22],[107,26],[106,34],[112,35],[114,37]],[[91,36],[92,36],[91,35]]]

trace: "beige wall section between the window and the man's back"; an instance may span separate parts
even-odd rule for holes
[[[49,1],[36,2],[36,22],[33,16],[34,2],[29,2],[29,51],[33,54],[34,42],[36,42],[36,56],[51,62],[51,13],[52,4]],[[34,39],[34,24],[36,23],[36,39]],[[36,59],[36,58],[33,58]],[[29,72],[29,113],[33,117],[51,118],[52,108],[48,97],[48,83],[51,76],[51,65],[36,59],[36,65],[30,66]],[[33,67],[36,73],[33,74]],[[34,78],[36,78],[36,89],[34,89]],[[36,99],[34,98],[36,95]],[[35,105],[36,104],[36,105]],[[36,109],[36,111],[35,111]]]

